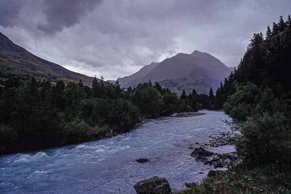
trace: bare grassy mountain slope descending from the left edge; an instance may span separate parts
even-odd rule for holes
[[[0,32],[0,78],[35,77],[37,79],[63,80],[65,82],[83,81],[91,85],[93,78],[76,73],[65,67],[33,55],[26,49],[14,44]]]

